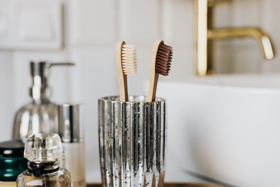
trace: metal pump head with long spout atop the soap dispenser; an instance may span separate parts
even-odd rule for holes
[[[50,61],[30,62],[30,72],[33,79],[33,86],[29,90],[29,95],[36,101],[46,98],[48,88],[49,68],[52,66],[73,66],[74,63],[62,62],[52,63]]]

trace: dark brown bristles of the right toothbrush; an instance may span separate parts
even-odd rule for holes
[[[156,57],[155,72],[164,76],[169,74],[172,62],[173,48],[161,44]]]

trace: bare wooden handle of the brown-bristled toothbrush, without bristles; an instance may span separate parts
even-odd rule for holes
[[[162,40],[157,39],[154,42],[152,55],[151,55],[151,67],[150,67],[150,82],[149,82],[149,90],[148,90],[148,102],[155,101],[155,93],[156,93],[156,87],[158,84],[158,73],[155,72],[155,63],[156,63],[156,57],[158,55],[158,48],[160,44],[164,44]]]

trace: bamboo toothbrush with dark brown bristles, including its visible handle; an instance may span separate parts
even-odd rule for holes
[[[172,47],[164,45],[162,40],[156,40],[153,45],[150,68],[150,83],[147,101],[155,101],[155,92],[158,84],[158,75],[167,76],[172,62]]]

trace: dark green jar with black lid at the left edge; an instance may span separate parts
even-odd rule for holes
[[[0,143],[0,187],[16,186],[16,179],[27,169],[27,159],[23,157],[24,143],[11,140]]]

